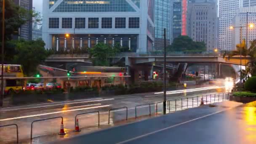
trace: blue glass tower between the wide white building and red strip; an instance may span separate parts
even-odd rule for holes
[[[164,47],[164,29],[166,29],[166,45],[170,44],[172,35],[172,0],[155,0],[155,51]]]

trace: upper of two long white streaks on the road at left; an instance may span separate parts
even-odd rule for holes
[[[92,100],[92,101],[79,101],[79,102],[70,102],[70,103],[63,103],[63,104],[53,104],[53,105],[43,105],[43,106],[37,106],[37,107],[24,107],[24,108],[16,108],[16,109],[6,109],[6,110],[0,110],[0,112],[8,112],[8,111],[14,111],[14,110],[21,110],[21,109],[36,109],[36,108],[43,108],[43,107],[54,107],[54,106],[61,106],[61,105],[67,105],[67,104],[81,104],[81,103],[89,103],[89,102],[97,102],[97,101],[109,101],[114,99],[99,99],[99,100]]]

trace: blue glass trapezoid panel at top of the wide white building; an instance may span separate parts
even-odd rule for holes
[[[126,0],[63,0],[53,12],[135,12]]]

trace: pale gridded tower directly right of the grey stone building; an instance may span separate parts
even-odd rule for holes
[[[229,27],[240,7],[240,0],[219,0],[219,49],[232,50],[232,35]]]

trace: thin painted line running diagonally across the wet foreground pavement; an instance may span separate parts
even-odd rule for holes
[[[160,132],[160,131],[165,131],[165,130],[167,130],[167,129],[169,129],[169,128],[173,128],[173,127],[176,127],[176,126],[179,126],[179,125],[183,125],[183,124],[186,124],[186,123],[195,121],[195,120],[199,120],[199,119],[202,119],[202,118],[204,118],[204,117],[208,117],[208,116],[211,116],[211,115],[215,115],[215,114],[218,114],[218,113],[220,113],[220,112],[227,111],[227,110],[229,110],[229,109],[232,109],[232,108],[228,108],[228,109],[225,109],[225,110],[221,110],[221,111],[218,111],[218,112],[214,112],[214,113],[209,114],[209,115],[205,115],[205,116],[202,116],[202,117],[195,118],[195,119],[193,119],[193,120],[189,120],[189,121],[186,121],[186,122],[183,122],[183,123],[179,123],[179,124],[176,124],[176,125],[172,125],[172,126],[170,126],[170,127],[163,128],[163,129],[160,129],[160,130],[157,130],[157,131],[153,131],[153,132],[151,132],[151,133],[147,133],[147,134],[144,134],[144,135],[141,135],[141,136],[137,136],[137,137],[135,137],[135,138],[128,139],[128,140],[125,140],[125,141],[121,141],[121,142],[118,142],[118,143],[116,143],[116,144],[124,144],[124,143],[129,142],[129,141],[134,141],[134,140],[136,140],[136,139],[140,139],[140,138],[143,138],[143,137],[145,137],[145,136],[149,136],[149,135],[158,133],[158,132]]]

